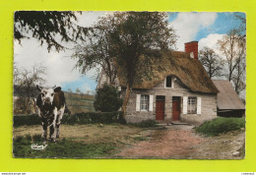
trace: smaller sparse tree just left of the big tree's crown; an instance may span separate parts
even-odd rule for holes
[[[114,85],[117,72],[113,65],[113,57],[109,53],[110,40],[109,32],[112,29],[110,21],[102,18],[93,29],[89,29],[86,34],[86,41],[77,45],[73,58],[78,58],[76,68],[81,74],[86,74],[92,69],[96,69],[96,79],[99,73],[106,76],[107,82]]]

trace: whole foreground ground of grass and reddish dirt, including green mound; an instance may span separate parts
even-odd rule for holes
[[[143,128],[146,126],[148,128]],[[219,117],[195,129],[200,134],[217,137],[196,135],[192,131],[177,129],[175,126],[163,130],[149,126],[151,122],[141,126],[61,125],[60,139],[56,143],[47,143],[42,150],[32,149],[33,144],[43,145],[40,138],[41,126],[14,127],[13,154],[14,157],[22,158],[138,158],[138,154],[142,154],[143,158],[239,159],[244,157],[244,118]],[[191,141],[194,141],[194,144]],[[125,151],[126,149],[128,151]],[[165,152],[161,154],[163,150]],[[232,153],[237,150],[240,155],[234,157]],[[131,152],[135,153],[132,155]]]

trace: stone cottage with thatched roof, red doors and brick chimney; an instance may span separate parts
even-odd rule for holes
[[[186,122],[200,125],[217,117],[219,92],[198,60],[198,42],[185,43],[185,52],[169,51],[154,61],[152,76],[134,85],[126,120]],[[117,85],[125,93],[125,81],[117,71]],[[106,82],[103,74],[98,87]]]

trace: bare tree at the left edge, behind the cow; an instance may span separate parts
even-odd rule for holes
[[[32,70],[19,69],[14,64],[14,88],[18,95],[21,113],[30,113],[32,101],[36,95],[35,84],[44,83],[43,76],[46,74],[46,67],[42,64],[34,64]]]

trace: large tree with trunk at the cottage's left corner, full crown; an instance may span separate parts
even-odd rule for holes
[[[176,41],[167,17],[167,13],[160,12],[116,12],[101,18],[92,30],[86,56],[79,60],[78,67],[83,72],[99,64],[112,78],[112,71],[122,70],[120,76],[126,84],[124,113],[134,84],[149,76],[152,60],[160,58],[160,50],[169,49]]]

